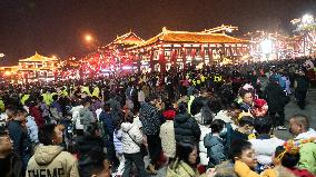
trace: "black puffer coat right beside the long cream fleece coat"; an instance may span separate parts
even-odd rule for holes
[[[198,142],[200,138],[200,129],[189,114],[179,114],[174,121],[176,141],[194,141]]]

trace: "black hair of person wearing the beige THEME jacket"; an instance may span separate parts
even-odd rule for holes
[[[39,141],[45,146],[52,145],[55,136],[55,124],[46,124],[39,129]]]

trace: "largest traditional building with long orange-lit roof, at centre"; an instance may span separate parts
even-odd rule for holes
[[[220,62],[225,58],[236,60],[249,53],[249,41],[228,35],[201,31],[162,31],[128,48],[139,70],[166,71],[170,68]]]

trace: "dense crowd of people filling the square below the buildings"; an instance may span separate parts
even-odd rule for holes
[[[0,86],[0,176],[313,177],[306,60]]]

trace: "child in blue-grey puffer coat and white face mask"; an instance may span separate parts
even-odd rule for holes
[[[211,132],[205,136],[204,146],[207,148],[207,157],[209,158],[208,167],[214,168],[221,161],[227,160],[227,149],[225,147],[225,139],[221,137],[227,132],[225,121],[220,119],[214,120],[209,128]]]

